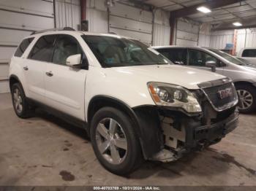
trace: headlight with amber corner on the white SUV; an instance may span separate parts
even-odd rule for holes
[[[148,82],[148,90],[155,104],[159,106],[173,106],[185,111],[202,112],[195,96],[184,87],[160,82]]]

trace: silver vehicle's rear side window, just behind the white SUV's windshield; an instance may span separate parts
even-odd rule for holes
[[[187,49],[165,48],[165,49],[158,49],[157,51],[160,52],[162,55],[164,55],[166,58],[168,58],[170,61],[172,61],[175,64],[187,65]]]

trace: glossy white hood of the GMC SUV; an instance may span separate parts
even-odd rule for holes
[[[177,65],[127,66],[112,69],[122,77],[129,77],[130,81],[164,82],[180,85],[190,90],[198,89],[197,84],[202,82],[225,78],[211,71]]]

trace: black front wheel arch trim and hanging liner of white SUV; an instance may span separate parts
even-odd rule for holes
[[[142,106],[132,109],[124,103],[124,101],[118,100],[117,98],[107,95],[94,96],[87,109],[88,133],[90,133],[90,123],[94,114],[104,106],[112,106],[116,109],[120,109],[129,116],[135,127],[137,127],[135,128],[135,133],[137,133],[140,139],[140,147],[145,159],[159,152],[159,134],[156,131],[156,129],[159,128],[158,125],[156,126],[158,118],[155,115],[156,113],[152,112],[155,110],[153,106]],[[142,111],[140,111],[140,109],[142,109]]]

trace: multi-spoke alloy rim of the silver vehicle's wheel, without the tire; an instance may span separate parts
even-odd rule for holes
[[[237,90],[239,96],[238,109],[248,109],[253,104],[252,94],[247,90]]]

